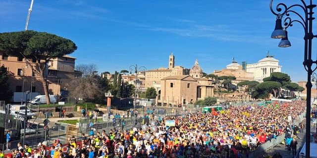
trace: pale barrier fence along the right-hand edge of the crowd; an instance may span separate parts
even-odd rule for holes
[[[293,123],[294,125],[299,125],[304,119],[305,119],[305,112],[302,113],[301,115],[299,115],[297,118],[293,119]],[[290,126],[292,125],[290,123]],[[291,136],[293,136],[293,132],[291,134]],[[261,154],[263,154],[264,152],[272,149],[273,147],[275,147],[276,145],[282,143],[282,141],[285,139],[285,133],[282,135],[279,135],[275,138],[272,138],[270,141],[265,142],[264,144],[261,144],[256,150],[254,150],[253,152],[249,153],[249,158],[258,158]]]

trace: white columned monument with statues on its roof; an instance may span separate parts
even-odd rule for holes
[[[247,64],[246,71],[247,73],[254,74],[254,80],[258,82],[263,82],[263,79],[269,77],[273,72],[281,72],[282,66],[278,65],[279,61],[274,59],[273,56],[267,55],[265,58],[259,60],[258,63]]]

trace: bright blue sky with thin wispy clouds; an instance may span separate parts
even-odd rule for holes
[[[286,1],[286,0],[285,0]],[[0,32],[24,30],[31,0],[0,1]],[[99,72],[148,70],[175,65],[191,68],[199,60],[210,74],[234,57],[255,63],[271,55],[293,81],[306,80],[303,31],[288,29],[292,47],[270,39],[275,17],[270,0],[34,0],[29,30],[73,40],[76,64],[94,63]],[[313,51],[316,52],[316,49]]]

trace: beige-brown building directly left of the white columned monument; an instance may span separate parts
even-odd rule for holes
[[[237,85],[241,81],[254,80],[254,74],[242,70],[242,66],[234,59],[231,64],[227,65],[225,69],[215,70],[212,74],[220,76],[234,76],[236,79],[232,80],[232,84]]]

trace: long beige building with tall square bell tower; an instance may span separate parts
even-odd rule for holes
[[[181,66],[175,66],[175,56],[169,55],[168,68],[159,68],[145,72],[145,88],[153,87],[155,83],[160,83],[160,80],[168,76],[189,75],[189,69]]]

